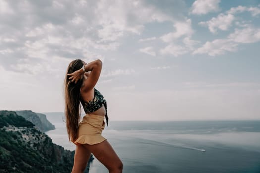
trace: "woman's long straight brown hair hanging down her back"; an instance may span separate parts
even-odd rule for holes
[[[65,117],[66,127],[68,132],[69,141],[75,142],[78,135],[78,125],[80,121],[81,107],[80,107],[80,88],[83,83],[83,79],[75,82],[69,80],[68,73],[73,73],[79,70],[83,66],[83,62],[80,59],[70,62],[65,80],[64,80],[64,98],[65,98]]]

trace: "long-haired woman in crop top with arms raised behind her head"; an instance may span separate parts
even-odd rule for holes
[[[101,135],[108,125],[106,100],[94,88],[102,69],[101,60],[85,63],[72,61],[64,81],[65,116],[69,141],[76,144],[72,173],[83,173],[91,153],[109,170],[122,173],[123,164],[106,138]],[[86,115],[80,122],[82,104]]]

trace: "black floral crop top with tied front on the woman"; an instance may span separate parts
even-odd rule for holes
[[[86,114],[94,112],[104,105],[105,112],[106,112],[105,113],[105,119],[106,119],[106,124],[108,126],[108,115],[107,115],[106,100],[104,99],[103,95],[95,87],[94,87],[94,98],[93,98],[93,100],[83,101],[82,99],[80,99],[80,102],[81,102],[83,109],[84,109]]]

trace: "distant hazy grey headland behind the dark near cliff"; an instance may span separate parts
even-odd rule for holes
[[[41,113],[35,113],[31,110],[15,111],[16,114],[24,117],[26,120],[32,122],[36,128],[42,132],[54,130],[55,126],[50,123],[46,115]]]

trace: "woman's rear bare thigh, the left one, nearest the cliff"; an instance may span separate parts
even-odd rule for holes
[[[80,173],[82,172],[82,170],[84,171],[88,164],[90,155],[91,152],[86,147],[84,147],[83,145],[76,145],[72,171],[75,173]]]

